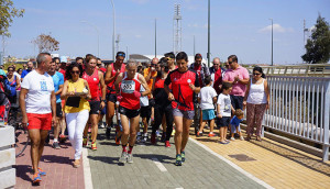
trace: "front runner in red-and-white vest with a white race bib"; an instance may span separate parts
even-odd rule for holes
[[[119,113],[123,133],[121,136],[122,154],[119,162],[123,164],[125,162],[133,163],[132,151],[136,141],[136,130],[139,129],[140,97],[150,93],[144,77],[136,73],[136,69],[135,60],[129,60],[127,71],[120,74],[114,82],[117,96],[121,96],[119,98]],[[119,84],[121,84],[120,87]],[[141,85],[145,89],[144,92],[140,92]],[[128,143],[129,151],[127,151]]]

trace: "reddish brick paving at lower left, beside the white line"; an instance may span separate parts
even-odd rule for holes
[[[51,144],[44,147],[40,167],[46,171],[42,177],[40,186],[32,186],[32,164],[30,158],[30,146],[16,158],[16,185],[14,188],[85,188],[82,166],[74,168],[74,149],[67,141],[61,149],[54,149]],[[82,164],[82,162],[81,162]]]

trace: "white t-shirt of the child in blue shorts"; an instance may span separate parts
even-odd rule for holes
[[[201,110],[215,110],[213,98],[217,97],[217,92],[212,87],[204,87],[198,93],[200,98],[200,109]]]

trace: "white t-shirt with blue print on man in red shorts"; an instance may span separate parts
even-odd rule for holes
[[[22,88],[28,89],[25,103],[26,113],[46,114],[51,113],[51,94],[54,91],[52,76],[47,73],[41,75],[32,70],[24,77]]]

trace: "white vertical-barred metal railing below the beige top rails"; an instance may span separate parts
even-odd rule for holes
[[[323,146],[329,155],[330,77],[268,76],[265,127]]]

